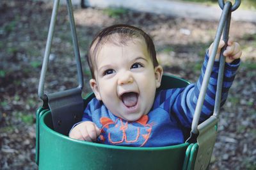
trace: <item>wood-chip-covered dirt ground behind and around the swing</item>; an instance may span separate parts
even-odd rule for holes
[[[37,169],[35,112],[51,3],[0,1],[0,169]],[[86,50],[102,27],[132,24],[152,36],[166,72],[195,82],[218,22],[178,19],[127,10],[74,8],[83,62],[84,93],[90,92]],[[243,63],[221,109],[210,169],[256,169],[256,25],[231,23]],[[77,86],[76,62],[65,6],[60,6],[45,84],[48,93]]]

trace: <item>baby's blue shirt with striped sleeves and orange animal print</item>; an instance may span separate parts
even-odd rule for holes
[[[200,87],[209,56],[205,55],[202,73],[195,84],[186,88],[166,89],[157,92],[150,112],[138,121],[127,122],[112,114],[106,106],[93,98],[84,110],[82,121],[93,121],[101,129],[99,143],[120,146],[170,146],[184,143],[184,132],[191,128]],[[228,89],[234,81],[239,60],[225,64],[221,105],[227,100]],[[200,122],[211,116],[218,78],[219,62],[212,68]]]

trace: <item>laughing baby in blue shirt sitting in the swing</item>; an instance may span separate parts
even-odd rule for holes
[[[200,122],[214,108],[218,59],[212,68]],[[161,85],[163,68],[156,59],[152,39],[141,29],[115,25],[103,29],[88,51],[92,72],[90,86],[95,94],[84,110],[83,120],[70,130],[69,137],[120,146],[170,146],[184,143],[184,129],[190,128],[212,45],[205,54],[202,73],[186,88],[156,91]],[[209,53],[209,54],[208,54]],[[227,99],[241,49],[228,41],[221,105]]]

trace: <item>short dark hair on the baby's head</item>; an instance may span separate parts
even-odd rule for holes
[[[110,36],[113,34],[118,34],[118,36]],[[91,43],[89,49],[88,49],[88,65],[90,66],[90,70],[92,73],[92,77],[94,76],[94,66],[92,59],[95,59],[97,56],[97,52],[99,52],[100,48],[108,42],[114,43],[115,45],[125,45],[129,40],[132,38],[140,38],[141,40],[144,40],[148,53],[150,54],[150,57],[152,59],[152,63],[154,67],[158,66],[158,62],[156,59],[156,49],[155,45],[150,38],[150,36],[147,35],[143,30],[141,30],[138,27],[134,26],[128,26],[124,24],[118,24],[110,27],[106,27],[102,31],[100,31],[97,36],[95,36],[93,42]]]

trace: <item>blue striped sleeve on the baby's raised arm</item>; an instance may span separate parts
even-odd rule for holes
[[[175,97],[175,101],[173,102],[173,105],[170,106],[171,118],[175,117],[177,121],[179,121],[179,123],[184,127],[188,127],[188,128],[191,127],[193,115],[195,112],[196,102],[198,100],[200,88],[202,85],[202,81],[204,79],[204,73],[206,70],[208,59],[209,59],[209,56],[206,53],[204,64],[201,70],[201,75],[198,81],[195,84],[189,84],[186,88],[179,89],[179,92],[180,92],[179,95]],[[221,106],[227,100],[228,89],[230,89],[232,82],[234,81],[239,64],[240,64],[239,59],[232,64],[225,63],[223,88],[222,88],[222,94],[221,94]],[[204,100],[204,105],[202,107],[200,122],[209,118],[209,116],[211,116],[214,110],[218,70],[219,70],[219,61],[215,61],[212,68],[211,77],[209,79],[209,86],[207,87],[207,91],[205,93],[205,100]]]

